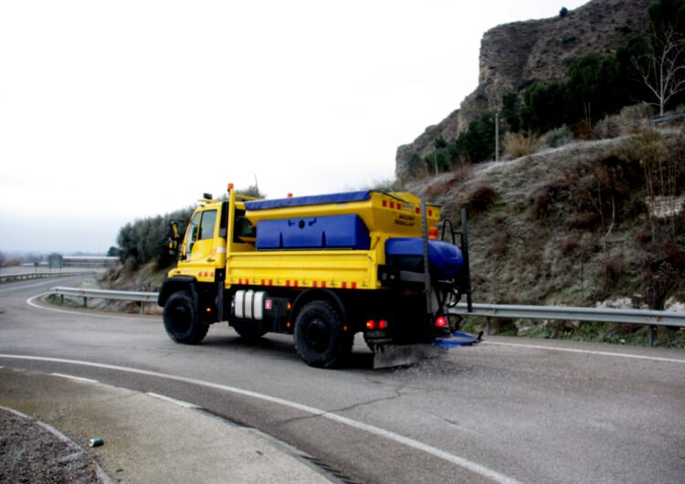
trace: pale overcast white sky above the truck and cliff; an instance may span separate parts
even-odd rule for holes
[[[478,84],[483,33],[581,0],[0,3],[0,250],[104,252],[222,195],[359,189]]]

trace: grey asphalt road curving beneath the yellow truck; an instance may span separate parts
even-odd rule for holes
[[[488,338],[443,360],[308,367],[291,338],[226,323],[171,342],[159,317],[49,307],[74,278],[0,285],[0,365],[168,395],[364,482],[683,482],[685,352]],[[199,479],[201,480],[201,479]]]

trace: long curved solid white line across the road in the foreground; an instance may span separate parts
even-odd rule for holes
[[[43,357],[43,356],[25,356],[25,355],[19,355],[19,354],[0,354],[0,358],[9,358],[9,359],[15,359],[15,360],[34,360],[34,361],[39,361],[39,362],[52,362],[52,363],[79,364],[82,366],[90,366],[93,368],[115,370],[115,371],[119,371],[119,372],[128,372],[128,373],[132,373],[132,374],[142,374],[145,376],[153,376],[156,378],[165,378],[167,380],[173,380],[173,381],[182,382],[185,384],[197,384],[197,385],[205,386],[207,388],[214,388],[216,390],[220,390],[223,392],[229,392],[229,393],[236,394],[236,395],[244,395],[244,396],[255,398],[255,399],[258,399],[258,400],[261,400],[264,402],[270,402],[273,404],[278,404],[278,405],[287,406],[289,408],[294,408],[296,410],[300,410],[301,412],[305,412],[305,413],[311,414],[313,416],[321,416],[322,418],[332,420],[333,422],[338,422],[338,423],[346,425],[346,426],[352,426],[354,428],[364,430],[364,431],[369,432],[371,434],[374,434],[376,436],[384,437],[384,438],[387,438],[389,440],[393,440],[399,444],[403,444],[407,447],[416,448],[417,450],[420,450],[422,452],[426,452],[427,454],[430,454],[434,457],[441,458],[443,460],[451,462],[452,464],[456,464],[460,468],[466,468],[471,472],[479,474],[480,476],[483,476],[484,478],[492,479],[496,482],[518,484],[518,481],[516,479],[512,479],[509,476],[505,476],[504,474],[501,474],[500,472],[497,472],[496,470],[493,470],[491,468],[486,468],[485,466],[481,466],[480,464],[477,464],[476,462],[472,462],[469,459],[460,458],[458,456],[455,456],[454,454],[450,454],[450,453],[446,452],[445,450],[442,450],[442,449],[437,448],[437,447],[429,446],[429,445],[424,444],[423,442],[419,442],[418,440],[415,440],[413,438],[405,437],[405,436],[402,436],[400,434],[396,434],[395,432],[391,432],[390,430],[385,430],[384,428],[364,424],[363,422],[358,422],[356,420],[353,420],[352,418],[347,418],[345,416],[339,416],[337,414],[333,414],[332,412],[327,412],[326,410],[321,410],[320,408],[316,408],[316,407],[313,407],[310,405],[302,405],[302,404],[298,404],[297,402],[291,402],[290,400],[285,400],[285,399],[279,398],[277,396],[259,394],[258,392],[252,392],[250,390],[244,390],[242,388],[237,388],[235,386],[227,386],[225,384],[215,384],[212,382],[205,382],[203,380],[194,380],[193,378],[187,378],[184,376],[175,376],[173,374],[162,374],[162,373],[158,373],[158,372],[151,372],[148,370],[140,370],[138,368],[130,368],[127,366],[118,366],[118,365],[114,365],[114,364],[82,362],[79,360],[68,360],[68,359],[63,359],[63,358],[47,358],[47,357]]]

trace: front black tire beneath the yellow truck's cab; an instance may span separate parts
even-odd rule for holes
[[[183,344],[201,342],[209,330],[209,324],[199,321],[193,297],[188,291],[174,292],[166,300],[163,321],[169,337]]]

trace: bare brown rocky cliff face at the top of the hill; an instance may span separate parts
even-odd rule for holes
[[[592,0],[564,17],[514,22],[491,28],[480,41],[479,86],[458,110],[429,126],[416,140],[397,148],[395,174],[408,174],[414,153],[433,151],[440,136],[454,140],[484,111],[496,110],[508,92],[522,92],[532,82],[564,79],[577,58],[605,57],[647,24],[652,0]]]

